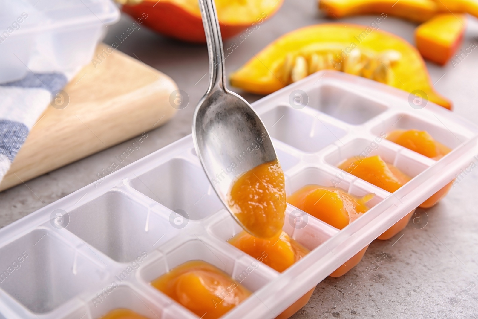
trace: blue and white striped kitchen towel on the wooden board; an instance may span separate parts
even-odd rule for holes
[[[0,181],[10,168],[32,127],[74,72],[36,73],[0,84]]]

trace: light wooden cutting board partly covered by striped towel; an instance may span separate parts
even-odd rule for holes
[[[107,48],[100,44],[97,53]],[[66,85],[65,108],[50,105],[43,112],[0,191],[151,131],[173,117],[176,109],[169,97],[177,86],[170,77],[118,50],[103,57]]]

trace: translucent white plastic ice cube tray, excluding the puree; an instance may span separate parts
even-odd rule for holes
[[[308,96],[303,109],[289,104],[297,89]],[[342,231],[312,216],[306,223],[295,212],[289,218],[296,210],[289,205],[284,231],[312,251],[282,274],[226,242],[240,227],[207,181],[189,135],[1,229],[0,318],[96,319],[114,308],[151,319],[197,318],[150,284],[196,259],[254,292],[224,318],[274,318],[478,154],[476,126],[431,103],[413,109],[408,96],[329,71],[253,104],[273,138],[287,194],[319,184],[377,195]],[[401,128],[426,130],[454,150],[435,162],[387,140],[372,143]],[[391,195],[336,167],[361,152],[380,154],[413,180]],[[68,213],[64,229],[52,226],[57,209]],[[175,223],[177,209],[189,216],[184,228]]]

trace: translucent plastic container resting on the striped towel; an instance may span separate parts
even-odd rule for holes
[[[120,18],[111,0],[0,0],[0,8],[0,83],[29,69],[76,71]]]

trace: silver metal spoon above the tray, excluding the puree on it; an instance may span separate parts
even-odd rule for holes
[[[226,88],[221,31],[214,0],[199,0],[209,53],[209,88],[193,116],[196,154],[224,206],[228,191],[244,172],[277,159],[259,115],[239,95]]]

